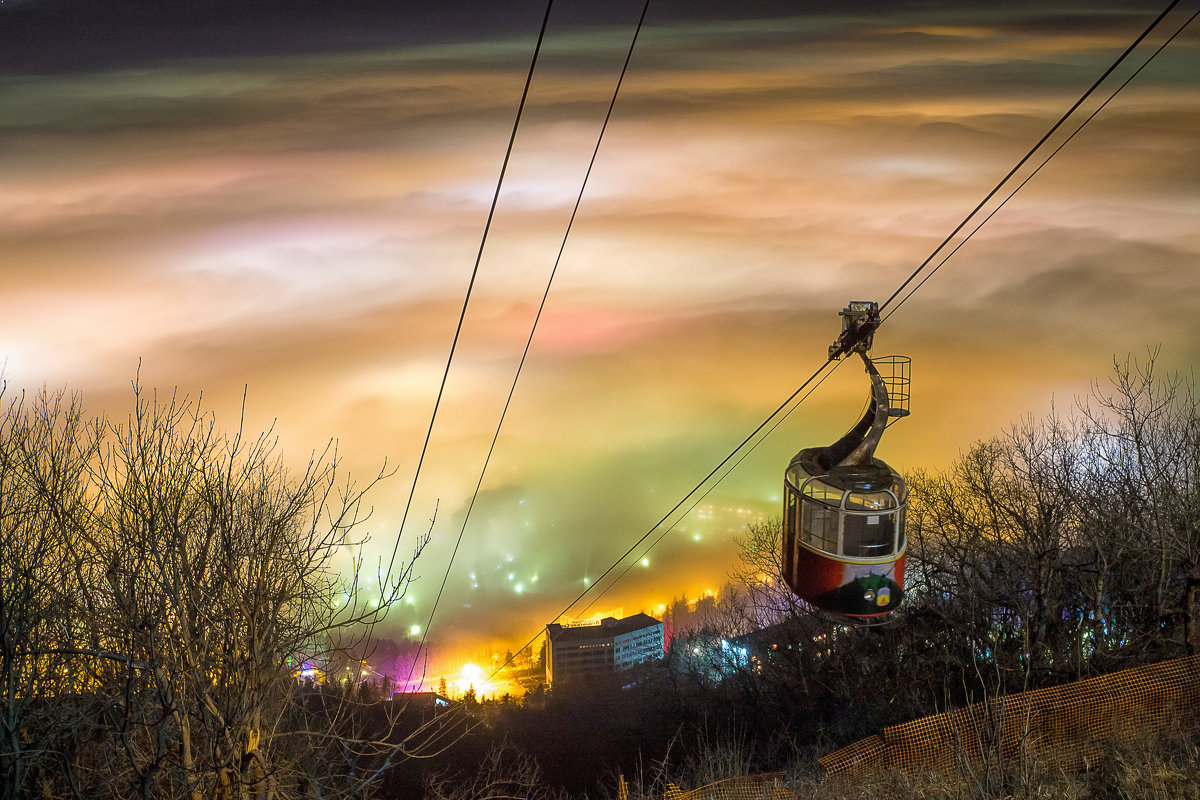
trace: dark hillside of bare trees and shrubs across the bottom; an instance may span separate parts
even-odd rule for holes
[[[1198,796],[1182,718],[1072,775],[1030,756],[847,782],[816,760],[1192,652],[1200,396],[1153,357],[908,475],[907,594],[886,624],[792,596],[775,519],[744,533],[719,599],[676,604],[660,662],[432,721],[304,676],[358,663],[412,577],[409,558],[366,597],[335,561],[361,492],[332,453],[289,471],[186,401],[134,404],[120,423],[65,393],[0,409],[0,798],[636,800],[763,772],[823,800]]]

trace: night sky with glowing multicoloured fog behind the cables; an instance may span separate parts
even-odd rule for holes
[[[652,2],[434,658],[550,621],[1162,7]],[[79,389],[121,417],[140,361],[230,427],[246,390],[247,423],[274,421],[293,459],[335,439],[364,479],[396,469],[366,525],[390,552],[544,11],[0,0],[10,386]],[[404,533],[437,510],[397,632],[428,614],[640,12],[551,16]],[[1069,414],[1114,356],[1200,365],[1198,223],[1200,23],[881,330],[876,354],[913,359],[913,415],[880,455],[944,467],[1026,414]],[[719,588],[738,527],[778,513],[790,456],[865,396],[840,368],[592,610]]]

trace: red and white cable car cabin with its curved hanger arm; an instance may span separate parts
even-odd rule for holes
[[[910,360],[868,351],[880,306],[852,301],[839,312],[841,336],[829,359],[857,353],[871,378],[866,414],[827,447],[809,447],[784,474],[784,579],[812,606],[852,618],[878,618],[904,599],[904,479],[875,457],[883,429],[908,414]],[[880,367],[887,374],[881,374]]]

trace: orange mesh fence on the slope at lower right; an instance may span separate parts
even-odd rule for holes
[[[1064,770],[1200,712],[1200,655],[994,698],[884,728],[821,757],[829,775],[946,770],[1031,754]]]

